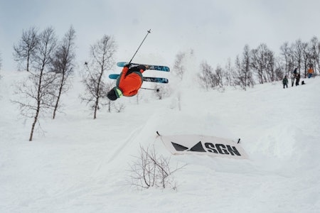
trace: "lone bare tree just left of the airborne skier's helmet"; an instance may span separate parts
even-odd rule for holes
[[[85,84],[85,95],[81,99],[93,109],[93,119],[97,118],[97,110],[102,105],[102,99],[107,97],[107,86],[103,82],[103,74],[114,65],[116,44],[114,39],[104,35],[95,45],[91,46],[90,63],[85,63],[87,77],[82,81]]]

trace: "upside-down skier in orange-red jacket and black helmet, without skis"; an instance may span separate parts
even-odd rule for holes
[[[115,101],[119,97],[131,97],[138,93],[142,86],[142,73],[148,69],[145,65],[138,65],[136,67],[129,67],[125,65],[117,78],[116,87],[113,87],[108,93],[107,97]]]

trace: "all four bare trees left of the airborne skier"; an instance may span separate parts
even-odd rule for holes
[[[106,104],[107,91],[112,87],[105,83],[103,74],[114,65],[115,50],[114,39],[104,35],[91,45],[90,58],[85,62],[86,75],[82,80],[85,92],[80,98],[89,104],[94,119],[97,110]],[[23,116],[33,119],[29,137],[32,141],[41,115],[51,113],[55,119],[61,96],[72,86],[75,30],[71,26],[59,40],[52,27],[43,31],[31,27],[23,31],[21,40],[14,45],[14,60],[29,73],[28,79],[17,85],[14,103],[18,104]],[[110,106],[110,101],[107,104]]]

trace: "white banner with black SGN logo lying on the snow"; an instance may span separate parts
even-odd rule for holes
[[[202,154],[223,158],[247,159],[247,154],[239,143],[213,136],[161,136],[164,146],[174,155]]]

